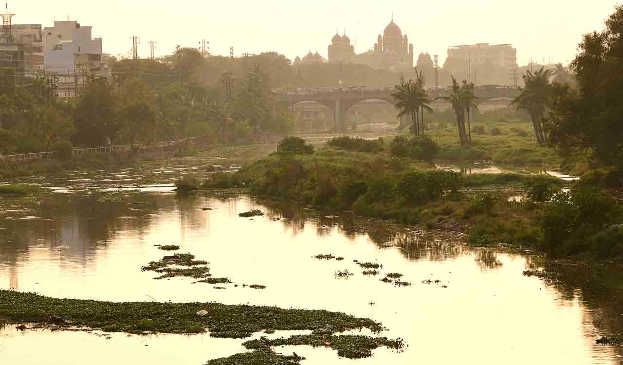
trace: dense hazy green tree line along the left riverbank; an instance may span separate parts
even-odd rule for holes
[[[113,77],[87,75],[77,98],[60,98],[45,80],[0,88],[0,153],[49,151],[61,141],[136,146],[191,136],[235,143],[283,135],[293,117],[275,105],[271,82],[278,61],[288,63],[280,55],[265,58],[240,70],[229,93],[221,69],[211,70],[212,60],[195,49],[157,62],[112,60]]]

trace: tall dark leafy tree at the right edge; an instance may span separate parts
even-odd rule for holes
[[[554,88],[547,120],[551,144],[563,152],[591,151],[594,161],[623,164],[623,6],[606,29],[584,35],[571,62],[578,82]],[[621,166],[623,167],[623,166]]]

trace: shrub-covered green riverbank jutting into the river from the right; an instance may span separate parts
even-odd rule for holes
[[[424,161],[323,148],[273,154],[204,187],[247,186],[252,194],[463,232],[475,245],[512,244],[559,257],[620,260],[621,211],[597,189],[531,174],[462,175]]]

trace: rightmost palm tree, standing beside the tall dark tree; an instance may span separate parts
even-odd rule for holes
[[[510,103],[510,105],[516,105],[517,110],[523,109],[530,113],[539,145],[547,143],[547,135],[543,130],[543,116],[551,100],[550,74],[551,70],[545,70],[544,67],[534,73],[526,72],[523,75],[525,87],[520,89],[521,94]]]

